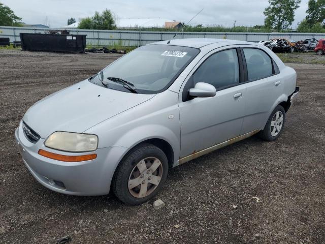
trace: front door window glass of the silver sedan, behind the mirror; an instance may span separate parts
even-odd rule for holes
[[[194,85],[205,82],[216,89],[239,83],[239,64],[236,49],[217,52],[208,57],[193,75]]]

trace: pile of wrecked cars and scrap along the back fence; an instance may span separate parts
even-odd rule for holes
[[[273,52],[307,52],[314,50],[318,40],[315,38],[305,39],[304,41],[295,42],[292,39],[276,38],[269,41],[260,41],[262,44],[270,48]]]

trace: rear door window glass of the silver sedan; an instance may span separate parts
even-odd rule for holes
[[[248,81],[263,79],[273,75],[272,60],[261,49],[244,48]]]

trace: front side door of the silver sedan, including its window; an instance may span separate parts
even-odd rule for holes
[[[179,95],[180,163],[186,156],[240,135],[246,99],[242,80],[241,53],[237,46],[208,53],[189,74]],[[214,85],[216,95],[190,98],[188,90],[198,82]]]

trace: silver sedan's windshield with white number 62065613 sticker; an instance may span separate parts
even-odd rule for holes
[[[120,80],[132,84],[137,93],[160,93],[174,82],[199,52],[197,48],[181,46],[142,46],[106,67],[103,70],[103,81],[108,84],[108,88],[123,92],[132,91]],[[103,85],[99,79],[92,82]]]

